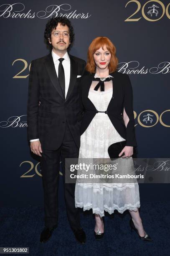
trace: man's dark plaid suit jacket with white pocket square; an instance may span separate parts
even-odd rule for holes
[[[39,138],[43,148],[56,150],[62,143],[66,122],[76,145],[80,146],[80,79],[86,62],[70,57],[69,90],[64,98],[50,53],[31,62],[28,88],[28,140]],[[41,102],[40,106],[39,101]]]

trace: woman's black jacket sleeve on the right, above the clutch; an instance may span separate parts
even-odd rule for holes
[[[129,122],[126,127],[126,146],[137,146],[135,128],[134,128],[134,113],[133,113],[133,91],[132,84],[129,76],[124,76],[124,110],[129,118]]]

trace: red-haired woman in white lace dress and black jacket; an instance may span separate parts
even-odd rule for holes
[[[107,37],[97,37],[89,46],[87,73],[81,78],[80,88],[83,120],[79,159],[108,159],[108,147],[112,143],[127,141],[119,160],[124,161],[123,174],[128,174],[132,168],[134,170],[133,146],[137,146],[132,86],[127,74],[116,71],[118,59],[115,53],[115,46]],[[93,210],[96,239],[104,235],[104,211],[112,214],[114,210],[120,213],[129,210],[131,228],[142,240],[152,241],[143,228],[138,211],[138,183],[81,183],[77,179],[75,206]]]

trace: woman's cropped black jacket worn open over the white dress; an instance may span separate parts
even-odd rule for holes
[[[137,146],[134,130],[134,113],[133,113],[133,92],[132,85],[127,74],[114,72],[110,74],[113,78],[113,95],[107,108],[107,115],[109,116],[114,128],[124,139],[127,140],[126,146]],[[81,112],[83,119],[81,123],[81,134],[86,131],[86,128],[91,123],[91,120],[96,115],[96,108],[89,100],[89,89],[94,74],[86,73],[81,77],[80,97],[81,97]],[[123,120],[123,110],[129,117],[127,128]],[[103,115],[106,115],[103,113]]]

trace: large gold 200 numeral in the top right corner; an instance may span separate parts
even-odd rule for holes
[[[130,15],[126,20],[124,20],[124,21],[139,21],[139,20],[142,18],[142,17],[140,17],[140,18],[131,19],[131,17],[134,16],[137,12],[139,12],[139,10],[140,10],[140,8],[141,8],[141,4],[140,4],[140,2],[137,1],[137,0],[130,0],[130,1],[125,5],[125,8],[127,7],[127,5],[128,5],[129,3],[132,3],[132,2],[134,2],[134,3],[137,4],[137,10],[136,10],[132,15]],[[147,3],[150,3],[150,2],[156,2],[156,3],[159,3],[159,4],[162,6],[162,15],[161,15],[160,18],[155,19],[155,20],[152,20],[152,19],[148,18],[148,17],[145,15],[144,8],[145,8],[145,6],[147,5]],[[168,13],[169,5],[170,5],[170,3],[167,5],[167,8],[166,8],[166,10],[165,10],[165,5],[164,5],[161,1],[159,1],[159,0],[150,0],[150,1],[147,1],[147,2],[143,5],[143,7],[142,7],[142,16],[143,16],[143,18],[145,18],[145,20],[148,20],[148,21],[157,21],[157,20],[160,20],[160,19],[163,17],[163,15],[165,14],[165,12],[166,12],[167,18],[170,19],[170,14]]]

